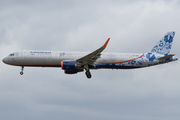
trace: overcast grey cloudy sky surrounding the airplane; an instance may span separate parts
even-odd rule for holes
[[[144,53],[168,31],[180,57],[178,0],[0,0],[0,59],[19,50]],[[137,70],[25,68],[0,62],[3,120],[169,120],[180,118],[179,61]]]

